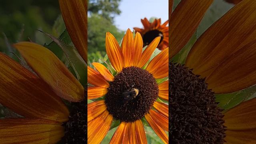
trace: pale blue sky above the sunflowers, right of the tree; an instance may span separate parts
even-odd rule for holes
[[[120,30],[143,28],[140,19],[144,17],[168,20],[168,0],[122,0],[119,9],[122,13],[115,17],[115,24]]]

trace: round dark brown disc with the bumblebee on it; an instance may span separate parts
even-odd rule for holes
[[[158,85],[153,75],[138,67],[128,67],[110,82],[105,103],[116,120],[134,122],[149,112],[157,97]]]

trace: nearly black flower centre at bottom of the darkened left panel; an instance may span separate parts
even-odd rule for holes
[[[85,92],[87,94],[87,92]],[[87,143],[87,102],[72,102],[70,104],[69,121],[64,123],[65,136],[61,143],[86,144]]]

